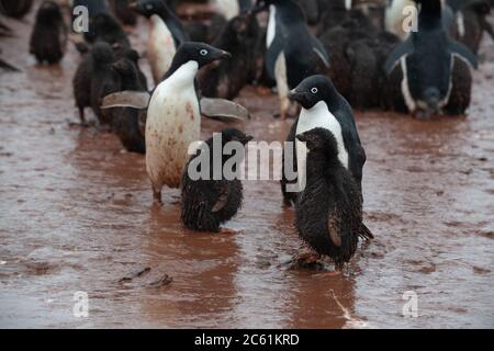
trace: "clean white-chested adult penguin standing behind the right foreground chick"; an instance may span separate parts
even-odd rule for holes
[[[296,135],[313,128],[328,129],[336,138],[339,161],[361,189],[366,150],[360,144],[351,106],[347,100],[339,94],[329,78],[325,76],[313,76],[304,79],[299,87],[290,92],[289,97],[302,105],[302,111],[297,121],[293,124],[287,141],[295,143]],[[296,157],[299,184],[303,184],[306,149],[300,141],[294,144],[294,148],[295,152],[293,150],[292,152]],[[296,202],[296,192],[287,191],[289,183],[296,183],[296,181],[289,182],[283,174],[281,190],[287,205]]]

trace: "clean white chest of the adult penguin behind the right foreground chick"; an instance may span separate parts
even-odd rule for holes
[[[296,125],[296,135],[312,131],[314,128],[325,128],[333,133],[338,145],[338,159],[348,169],[348,151],[345,148],[341,125],[329,112],[324,101],[316,103],[311,110],[302,109]],[[305,144],[296,140],[296,165],[299,170],[305,170],[307,148]],[[299,173],[300,174],[300,173]]]

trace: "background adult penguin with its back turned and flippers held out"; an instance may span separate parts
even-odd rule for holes
[[[442,25],[439,0],[420,4],[418,32],[397,45],[388,57],[392,104],[417,117],[463,114],[470,104],[475,55],[452,39]]]

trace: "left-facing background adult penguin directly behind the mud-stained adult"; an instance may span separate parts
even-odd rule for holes
[[[189,35],[165,0],[139,0],[131,7],[150,21],[147,55],[157,84],[170,68],[178,47],[189,41]]]

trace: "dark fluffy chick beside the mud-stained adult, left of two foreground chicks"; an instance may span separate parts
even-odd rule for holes
[[[217,136],[216,136],[217,137]],[[226,144],[236,141],[245,146],[252,139],[238,129],[229,128],[221,133],[222,149],[213,149],[213,137],[205,141],[207,148],[200,148],[193,155],[186,167],[182,177],[181,189],[181,219],[182,223],[192,230],[199,231],[218,231],[220,226],[232,219],[240,210],[243,202],[243,185],[238,179],[227,180],[222,171],[221,180],[213,180],[213,154],[221,152],[222,170],[225,162],[232,156],[224,156],[223,148]],[[207,152],[209,157],[209,179],[192,180],[189,177],[189,165],[198,157],[202,157],[202,152]],[[236,155],[238,157],[238,155]],[[242,155],[242,158],[244,155]],[[201,165],[202,166],[202,165]],[[201,170],[198,167],[198,171]],[[236,172],[236,169],[233,169]]]

